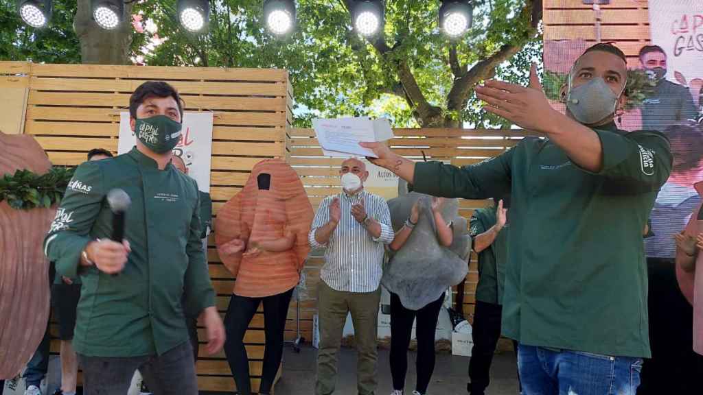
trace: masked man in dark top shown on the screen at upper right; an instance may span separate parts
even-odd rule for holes
[[[657,80],[654,94],[643,103],[643,129],[664,131],[669,125],[698,118],[688,88],[666,79],[666,53],[662,47],[643,46],[640,49],[640,62],[644,70]]]

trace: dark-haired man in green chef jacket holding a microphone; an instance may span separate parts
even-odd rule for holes
[[[195,395],[186,316],[200,316],[210,354],[224,344],[205,252],[195,180],[172,164],[183,107],[165,82],[145,82],[129,99],[136,147],[75,171],[44,240],[61,276],[82,280],[73,347],[86,395],[124,395],[139,369],[155,394]],[[106,195],[131,199],[124,240],[110,240]]]

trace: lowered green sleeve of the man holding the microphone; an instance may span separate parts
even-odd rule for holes
[[[191,317],[197,317],[205,308],[215,305],[215,292],[212,289],[212,283],[210,283],[207,257],[202,250],[202,240],[200,239],[200,194],[196,193],[196,195],[198,195],[198,204],[193,210],[191,228],[188,233],[188,244],[186,245],[188,268],[186,269],[183,290],[186,316]]]

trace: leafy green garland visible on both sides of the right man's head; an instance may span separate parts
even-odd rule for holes
[[[544,70],[544,91],[547,97],[553,101],[560,101],[560,90],[567,83],[569,75],[567,73],[552,72]],[[640,108],[645,99],[652,96],[654,86],[657,86],[657,81],[650,77],[644,70],[628,70],[627,85],[627,103],[624,110],[634,110]]]

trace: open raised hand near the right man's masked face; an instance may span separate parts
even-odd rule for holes
[[[484,110],[517,124],[524,129],[545,133],[551,129],[557,110],[552,108],[532,64],[529,85],[520,86],[491,79],[475,88],[477,98],[484,101]]]

